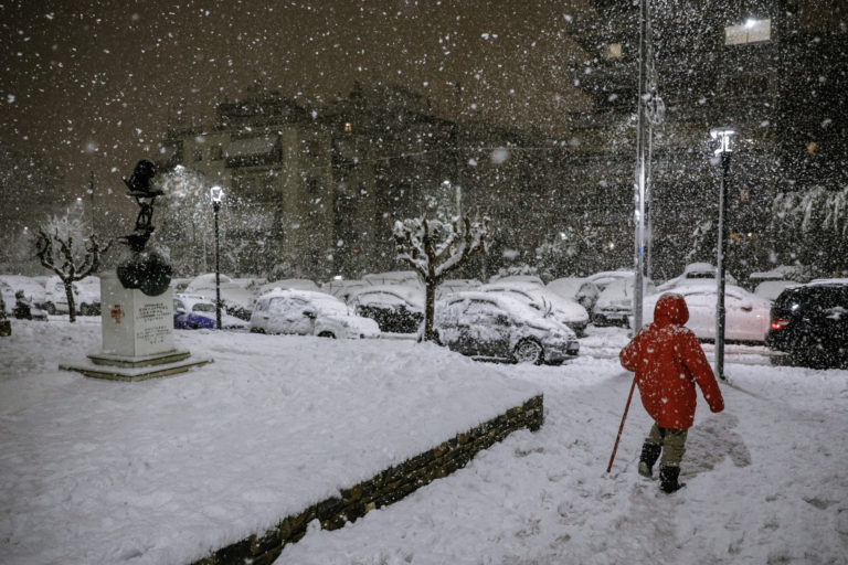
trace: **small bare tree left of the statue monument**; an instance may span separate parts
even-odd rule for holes
[[[53,218],[47,226],[39,228],[35,239],[39,260],[55,273],[65,287],[72,322],[76,321],[74,282],[96,273],[100,268],[100,257],[112,246],[112,241],[104,246],[94,234],[81,246],[77,242],[83,237],[78,227],[78,222],[74,223],[67,217]]]

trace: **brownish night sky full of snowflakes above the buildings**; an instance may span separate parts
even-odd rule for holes
[[[401,84],[448,117],[459,81],[464,115],[544,130],[585,104],[565,33],[585,0],[220,4],[2,2],[0,142],[61,164],[72,198],[94,171],[99,199],[158,152],[169,119],[209,122],[254,81],[316,102]]]

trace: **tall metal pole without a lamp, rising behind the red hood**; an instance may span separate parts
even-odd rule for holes
[[[645,95],[647,81],[647,10],[648,0],[639,0],[639,92],[637,98],[636,125],[636,182],[634,220],[636,235],[634,241],[634,292],[633,292],[633,331],[642,328],[642,301],[645,277]]]

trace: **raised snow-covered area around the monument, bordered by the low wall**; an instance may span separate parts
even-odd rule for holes
[[[178,332],[214,358],[114,383],[59,371],[99,327],[0,350],[0,561],[183,564],[539,394],[435,345]]]

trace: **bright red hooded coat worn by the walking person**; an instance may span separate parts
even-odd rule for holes
[[[636,373],[642,404],[659,427],[685,429],[695,422],[695,383],[712,412],[724,399],[700,343],[683,327],[689,309],[680,295],[664,295],[645,326],[619,353],[622,365]]]

